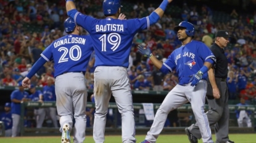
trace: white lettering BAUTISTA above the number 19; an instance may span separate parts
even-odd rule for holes
[[[95,29],[96,29],[96,32],[105,32],[105,31],[123,32],[123,25],[116,25],[116,24],[96,25]]]

